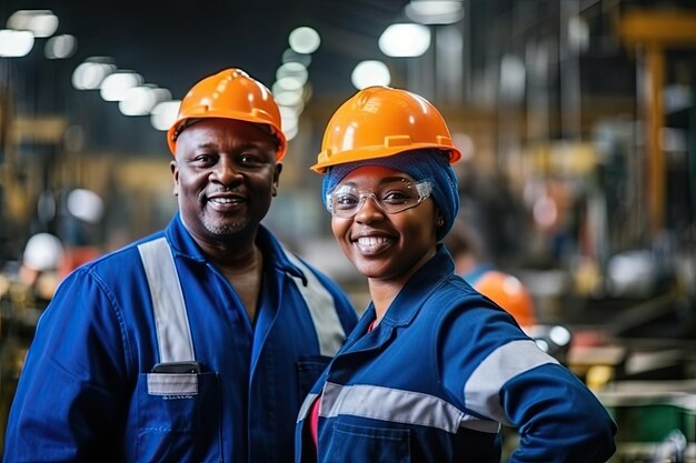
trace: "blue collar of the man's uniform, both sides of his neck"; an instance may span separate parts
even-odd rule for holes
[[[191,233],[189,233],[183,225],[181,215],[178,212],[167,225],[165,234],[175,255],[182,255],[202,264],[208,263],[208,259],[196,243],[196,240],[193,240],[193,236],[191,236]],[[282,244],[266,227],[259,224],[256,242],[264,253],[266,264],[270,263],[277,271],[299,276],[305,284],[307,283],[305,273],[290,262],[290,259],[287,256],[288,251],[285,250]]]

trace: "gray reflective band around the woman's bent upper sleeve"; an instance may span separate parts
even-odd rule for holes
[[[493,351],[464,385],[466,406],[510,424],[500,404],[500,389],[513,378],[546,363],[558,363],[534,341],[513,341]]]

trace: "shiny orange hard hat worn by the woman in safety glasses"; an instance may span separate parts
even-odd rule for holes
[[[389,87],[368,87],[334,113],[311,169],[324,173],[330,165],[422,148],[447,151],[450,163],[461,158],[443,115],[425,98]]]

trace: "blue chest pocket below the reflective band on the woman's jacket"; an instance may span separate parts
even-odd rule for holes
[[[327,424],[331,425],[331,424]],[[335,422],[322,463],[409,463],[410,431]]]

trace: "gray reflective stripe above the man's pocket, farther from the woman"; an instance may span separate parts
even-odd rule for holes
[[[160,362],[196,360],[173,256],[165,238],[138,245],[150,286]]]

